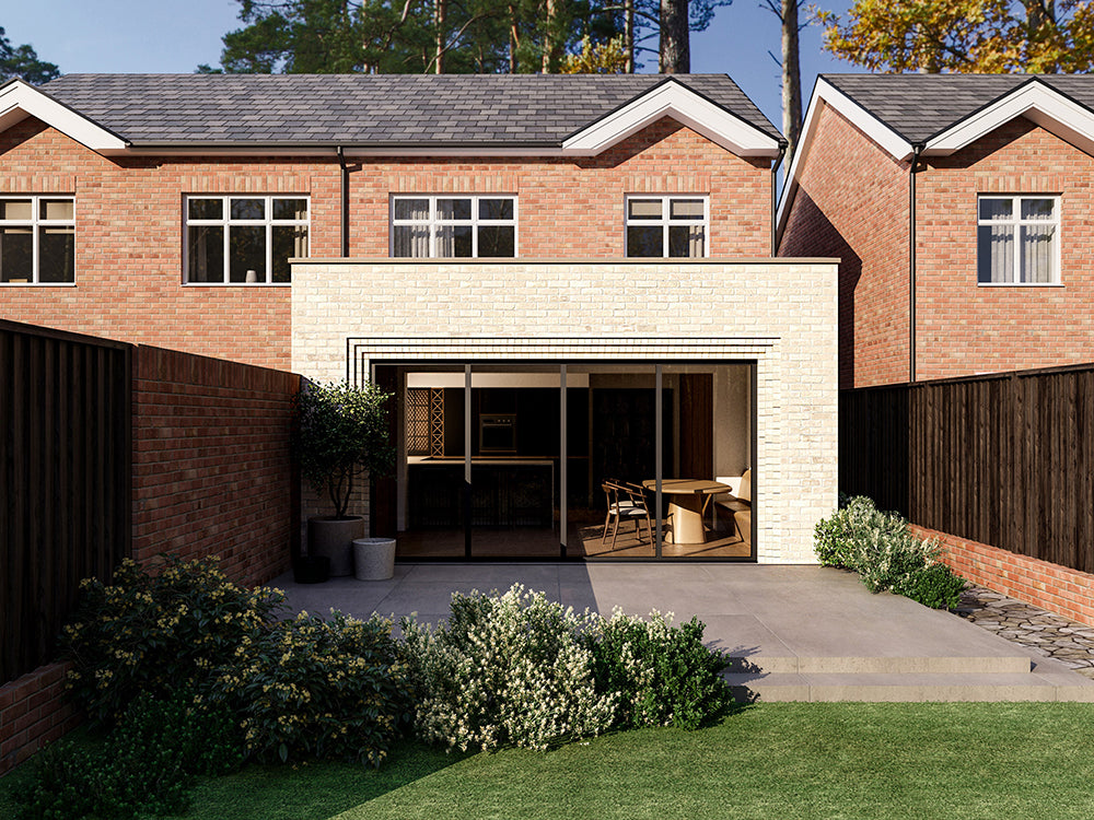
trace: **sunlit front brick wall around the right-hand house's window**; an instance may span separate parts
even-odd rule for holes
[[[1019,118],[918,175],[917,376],[1094,358],[1094,157]],[[1056,194],[1062,288],[978,288],[978,194]]]

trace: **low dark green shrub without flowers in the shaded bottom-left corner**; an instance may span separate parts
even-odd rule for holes
[[[20,817],[177,813],[189,801],[195,775],[237,769],[241,750],[226,711],[199,708],[187,692],[167,701],[141,695],[102,746],[62,740],[43,751],[16,794]]]

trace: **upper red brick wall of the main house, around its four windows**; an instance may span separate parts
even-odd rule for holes
[[[664,119],[598,157],[376,159],[352,163],[350,254],[388,255],[395,192],[519,197],[522,257],[621,257],[624,196],[711,197],[710,253],[768,256],[770,163],[742,160]],[[4,286],[0,317],[267,367],[290,364],[290,288],[186,285],[188,194],[311,196],[311,255],[340,249],[330,157],[107,159],[35,119],[0,132],[0,194],[75,196],[73,286]]]

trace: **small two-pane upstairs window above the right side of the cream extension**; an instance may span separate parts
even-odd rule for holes
[[[709,223],[706,197],[628,197],[627,256],[706,256]]]

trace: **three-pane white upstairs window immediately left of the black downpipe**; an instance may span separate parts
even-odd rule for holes
[[[307,256],[306,197],[187,197],[185,281],[288,284]]]

